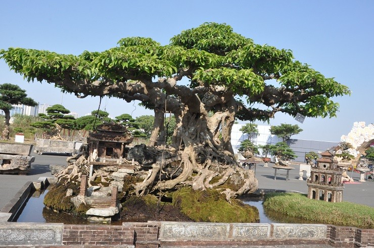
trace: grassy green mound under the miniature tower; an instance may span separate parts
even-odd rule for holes
[[[315,201],[299,193],[269,193],[263,205],[266,210],[316,223],[374,228],[374,208],[361,204]]]

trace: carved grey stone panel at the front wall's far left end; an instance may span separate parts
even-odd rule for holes
[[[0,225],[0,246],[61,245],[64,224],[3,223]]]

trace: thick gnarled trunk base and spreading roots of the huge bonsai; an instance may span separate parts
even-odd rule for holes
[[[190,185],[195,190],[217,189],[229,201],[236,195],[255,191],[258,183],[253,171],[241,168],[233,156],[230,133],[234,113],[226,108],[208,117],[185,106],[176,117],[173,135],[172,146],[177,156],[166,161],[159,157],[146,180],[135,186],[136,194]],[[179,173],[173,177],[176,171]]]

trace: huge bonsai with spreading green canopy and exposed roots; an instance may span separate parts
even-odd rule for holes
[[[253,192],[257,179],[238,166],[231,146],[236,118],[268,121],[278,112],[335,117],[333,97],[350,94],[347,86],[294,60],[290,50],[256,44],[218,23],[184,30],[167,45],[127,37],[103,52],[74,56],[9,48],[0,50],[0,58],[28,81],[53,83],[80,98],[107,95],[146,104],[154,111],[150,145],[165,136],[165,113],[172,113],[174,157],[158,157],[152,171],[141,167],[138,174],[150,175],[134,183],[137,195],[178,185],[214,188],[227,199]],[[169,173],[178,167],[178,176]],[[235,190],[225,186],[232,176]]]

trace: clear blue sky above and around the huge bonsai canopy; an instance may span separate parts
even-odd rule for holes
[[[79,55],[104,51],[123,37],[151,37],[161,44],[204,22],[226,23],[258,44],[293,51],[326,77],[352,90],[335,99],[337,118],[307,118],[303,124],[276,114],[271,125],[298,124],[294,138],[340,141],[353,122],[373,123],[374,1],[0,1],[0,48],[24,47]],[[61,104],[79,116],[95,110],[99,98],[78,99],[48,83],[27,83],[0,61],[0,83],[14,83],[42,104]],[[115,117],[152,114],[115,98],[102,110]],[[262,124],[258,122],[257,124]]]

